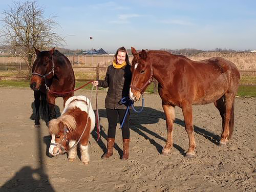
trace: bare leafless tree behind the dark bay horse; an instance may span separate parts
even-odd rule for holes
[[[45,18],[44,8],[35,0],[14,1],[2,15],[4,27],[1,36],[4,37],[4,44],[25,60],[30,72],[35,56],[34,47],[49,49],[65,43],[65,39],[55,32],[60,27],[55,17]]]

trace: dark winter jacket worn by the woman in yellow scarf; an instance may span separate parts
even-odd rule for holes
[[[124,104],[120,104],[123,97],[129,96],[130,83],[132,79],[131,66],[126,65],[120,69],[115,69],[113,65],[108,67],[104,80],[99,80],[99,87],[109,88],[105,98],[105,108],[126,109]]]

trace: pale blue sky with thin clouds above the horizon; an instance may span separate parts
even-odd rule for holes
[[[20,2],[23,2],[20,0]],[[67,49],[256,50],[256,1],[37,0]],[[0,12],[11,0],[0,0]],[[2,16],[2,15],[0,15]],[[0,23],[0,27],[2,24]],[[90,40],[90,36],[93,37]]]

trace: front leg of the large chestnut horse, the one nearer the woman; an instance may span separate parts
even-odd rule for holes
[[[174,106],[162,103],[163,110],[166,117],[166,129],[167,129],[167,139],[165,146],[162,150],[162,155],[167,155],[170,152],[170,148],[173,146],[173,123],[175,119]]]

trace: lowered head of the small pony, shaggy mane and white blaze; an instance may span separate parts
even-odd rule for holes
[[[49,133],[52,135],[49,153],[53,156],[63,154],[69,150],[70,135],[76,128],[73,116],[66,115],[49,122]]]

